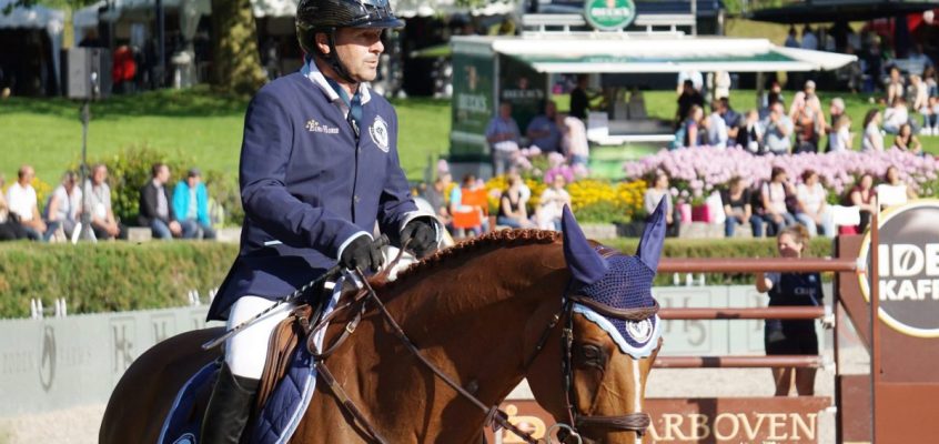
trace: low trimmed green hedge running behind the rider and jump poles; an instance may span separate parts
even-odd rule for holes
[[[633,254],[637,239],[605,244]],[[831,241],[812,241],[809,255],[830,255]],[[219,286],[238,245],[218,242],[102,242],[98,244],[0,243],[0,317],[29,315],[30,299],[51,306],[64,297],[70,313],[160,309],[189,303],[186,292],[204,297]],[[666,258],[771,258],[769,240],[679,240],[665,242]],[[659,275],[659,285],[672,284]],[[707,282],[749,283],[751,276],[708,275]]]

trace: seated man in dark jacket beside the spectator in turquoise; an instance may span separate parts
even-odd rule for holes
[[[151,179],[140,190],[140,226],[150,226],[153,238],[171,240],[182,235],[182,226],[176,221],[166,183],[170,181],[170,167],[154,163],[150,169]]]

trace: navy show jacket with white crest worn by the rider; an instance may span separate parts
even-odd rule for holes
[[[248,108],[241,149],[241,250],[209,320],[241,296],[277,299],[336,263],[354,234],[396,239],[418,212],[397,157],[397,115],[360,89],[356,142],[335,91],[313,63],[262,88]]]

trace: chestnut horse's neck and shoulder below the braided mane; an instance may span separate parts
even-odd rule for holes
[[[563,264],[556,246],[495,250],[461,266],[442,264],[392,289],[387,307],[424,356],[485,405],[496,405],[522,380],[532,337],[561,307],[567,274],[545,266]],[[391,442],[477,436],[485,413],[458,398],[388,332],[377,314],[363,320],[333,371],[350,374],[365,416]]]

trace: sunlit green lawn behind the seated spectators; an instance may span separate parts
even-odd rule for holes
[[[830,98],[845,98],[856,133],[865,112],[874,107],[865,94],[820,95],[826,110]],[[787,100],[791,97],[791,92],[786,93]],[[567,109],[566,97],[558,99],[558,108]],[[647,91],[645,99],[650,117],[674,115],[674,91]],[[743,112],[755,107],[756,93],[731,91],[730,101]],[[402,165],[408,179],[422,180],[427,165],[448,150],[450,101],[414,98],[394,103],[401,121]],[[191,158],[206,170],[236,174],[246,105],[246,99],[213,94],[203,87],[114,97],[92,104],[88,155],[101,159],[122,148],[145,145]],[[65,99],[11,98],[0,102],[0,173],[9,181],[16,178],[20,164],[29,163],[44,182],[58,182],[81,154],[79,110],[80,103]],[[926,151],[939,153],[939,138],[920,140]],[[885,142],[891,144],[892,138]],[[859,145],[856,137],[855,149]],[[643,151],[652,150],[643,147]]]

